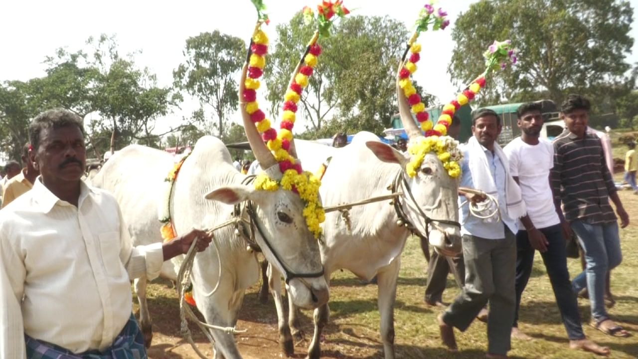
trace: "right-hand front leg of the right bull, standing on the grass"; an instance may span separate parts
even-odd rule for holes
[[[401,257],[397,256],[378,274],[378,305],[381,317],[381,340],[385,359],[394,359],[394,300]]]

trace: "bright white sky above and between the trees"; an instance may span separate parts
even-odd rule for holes
[[[474,0],[440,0],[449,13],[452,26],[445,31],[427,34],[427,45],[436,56],[421,61],[415,79],[428,93],[441,101],[456,95],[447,73],[453,43],[450,33],[461,11],[468,10]],[[303,6],[315,6],[318,0],[266,0],[271,24],[265,31],[274,40],[275,26],[287,22]],[[355,14],[389,15],[412,30],[418,11],[426,0],[345,0]],[[637,8],[638,0],[631,0]],[[84,47],[89,36],[101,33],[117,34],[121,54],[141,50],[135,56],[138,66],[148,66],[158,76],[162,86],[172,83],[172,70],[183,61],[182,49],[189,36],[219,29],[248,41],[256,20],[256,12],[249,0],[182,0],[182,1],[86,1],[86,0],[24,0],[0,3],[0,81],[28,80],[45,75],[43,60],[59,47],[75,51]],[[635,27],[631,31],[638,38]],[[407,39],[406,39],[407,40]],[[503,40],[503,39],[500,39]],[[638,43],[638,40],[637,42]],[[489,44],[486,44],[486,46]],[[636,49],[634,45],[634,49]],[[638,52],[629,62],[638,62]],[[524,60],[524,59],[523,59]],[[262,89],[263,93],[263,89]],[[283,94],[282,94],[283,96]],[[168,123],[177,125],[182,114],[188,116],[193,101],[184,104],[188,111],[176,112],[158,123],[158,130]],[[265,105],[263,108],[267,108]],[[234,116],[236,119],[237,116]],[[299,123],[302,125],[302,123]],[[302,130],[302,126],[295,130]],[[295,131],[296,132],[296,131]]]

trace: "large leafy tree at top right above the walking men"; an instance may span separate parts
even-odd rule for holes
[[[493,40],[510,39],[519,63],[495,77],[481,103],[538,93],[560,103],[567,91],[595,88],[623,78],[634,39],[633,10],[623,0],[481,0],[456,20],[448,71],[466,84],[484,70],[482,54]]]

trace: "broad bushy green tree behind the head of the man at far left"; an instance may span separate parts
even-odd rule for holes
[[[115,36],[91,37],[86,45],[77,52],[56,50],[45,59],[47,75],[29,80],[39,111],[63,107],[82,118],[95,114],[85,128],[96,157],[110,149],[113,134],[115,148],[133,142],[158,147],[164,134],[153,133],[155,119],[169,114],[181,95],[158,86],[147,68],[138,68],[135,53],[122,57]]]

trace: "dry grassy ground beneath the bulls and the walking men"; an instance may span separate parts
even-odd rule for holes
[[[620,193],[634,224],[621,229],[623,263],[612,272],[612,292],[616,306],[609,310],[612,317],[634,333],[628,339],[604,335],[590,326],[584,332],[598,344],[612,349],[611,358],[638,358],[638,196],[630,191]],[[475,321],[465,333],[457,332],[461,351],[448,353],[440,344],[436,315],[438,310],[429,309],[423,303],[426,282],[426,261],[419,243],[410,239],[403,252],[403,264],[397,289],[395,307],[397,358],[480,358],[486,350],[486,325]],[[569,259],[572,277],[579,273],[580,263]],[[276,314],[272,300],[267,305],[258,302],[258,285],[251,287],[244,301],[239,328],[248,328],[245,335],[238,335],[237,342],[242,354],[248,358],[279,358],[277,344]],[[450,302],[459,293],[452,277],[444,301]],[[151,348],[151,358],[197,358],[179,338],[179,314],[174,290],[165,283],[151,284],[149,302],[154,316],[156,340]],[[589,302],[579,300],[583,323],[589,321]],[[348,272],[338,271],[332,277],[330,293],[330,324],[325,329],[322,344],[323,358],[383,358],[378,334],[379,315],[376,306],[376,286],[365,285]],[[582,351],[568,349],[565,329],[554,303],[553,292],[545,269],[537,254],[534,271],[523,293],[520,328],[532,337],[533,342],[512,342],[510,355],[513,358],[573,358],[584,359],[595,356]],[[304,312],[302,326],[306,338],[311,333],[311,312]],[[206,348],[200,335],[196,337]],[[307,342],[297,344],[295,351],[302,358]],[[210,351],[209,351],[210,352]]]

